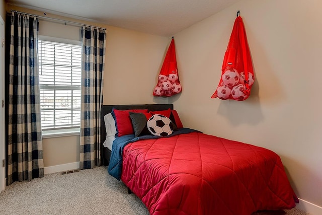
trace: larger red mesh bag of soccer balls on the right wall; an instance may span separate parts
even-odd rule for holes
[[[246,100],[255,77],[243,19],[237,12],[221,68],[221,79],[211,98]]]

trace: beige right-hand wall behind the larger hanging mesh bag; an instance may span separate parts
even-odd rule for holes
[[[321,1],[245,0],[175,35],[184,126],[280,155],[298,197],[322,206]],[[210,99],[236,12],[257,81],[243,102]],[[189,107],[189,108],[187,108]]]

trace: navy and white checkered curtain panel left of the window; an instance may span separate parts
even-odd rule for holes
[[[38,20],[12,13],[7,185],[44,176],[38,76]],[[9,26],[9,25],[7,25]]]

